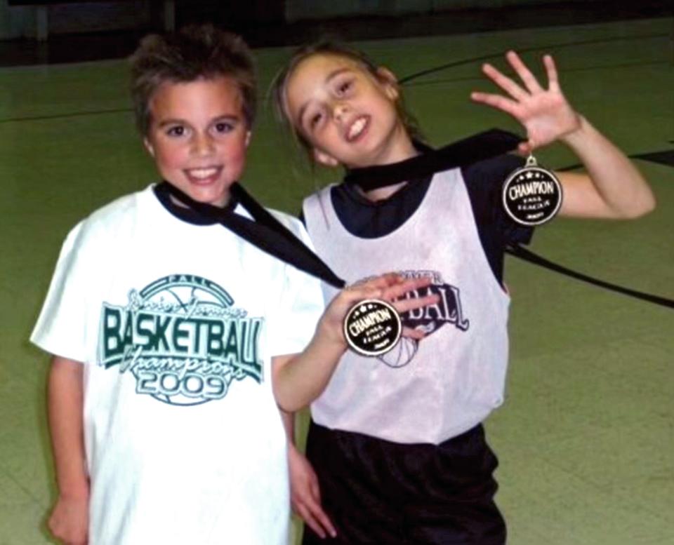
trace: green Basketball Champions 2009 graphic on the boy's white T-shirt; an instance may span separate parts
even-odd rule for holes
[[[171,405],[222,399],[234,379],[262,379],[261,318],[234,307],[207,278],[176,274],[131,290],[126,307],[103,304],[100,365],[119,365],[136,393]]]

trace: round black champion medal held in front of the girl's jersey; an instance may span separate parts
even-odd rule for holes
[[[401,334],[400,315],[385,301],[361,301],[344,318],[346,342],[362,356],[379,356],[388,352],[397,344]]]

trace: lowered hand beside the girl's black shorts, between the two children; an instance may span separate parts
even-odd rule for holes
[[[318,477],[306,457],[292,445],[288,450],[290,491],[293,511],[316,534],[336,537],[337,532],[321,506],[321,491]]]

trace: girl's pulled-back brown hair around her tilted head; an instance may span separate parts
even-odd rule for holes
[[[371,76],[376,79],[381,79],[381,74],[378,72],[378,65],[376,65],[365,53],[359,51],[355,48],[348,46],[345,43],[338,41],[332,41],[328,39],[322,39],[315,43],[310,43],[308,45],[300,47],[297,51],[293,53],[290,60],[282,69],[281,72],[276,76],[274,83],[272,83],[272,97],[274,100],[275,112],[279,121],[286,127],[287,130],[291,131],[291,134],[295,137],[295,140],[308,152],[308,156],[312,159],[312,145],[304,135],[293,126],[293,123],[288,119],[288,116],[285,112],[285,93],[286,85],[290,76],[292,76],[295,69],[300,65],[303,60],[308,59],[314,55],[332,55],[335,57],[342,57],[349,60],[352,60],[357,65],[362,67],[366,72],[369,72]],[[407,130],[407,133],[414,140],[423,141],[423,135],[421,130],[418,128],[418,123],[414,116],[412,116],[407,107],[405,107],[404,99],[402,93],[399,94],[398,100],[395,102],[395,108],[399,119],[402,121],[402,124]]]

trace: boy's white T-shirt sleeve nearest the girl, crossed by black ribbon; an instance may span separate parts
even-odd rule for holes
[[[286,217],[284,223],[309,248],[309,235],[296,219]],[[279,306],[270,328],[270,355],[298,354],[312,339],[324,309],[321,283],[291,264],[286,264]]]

